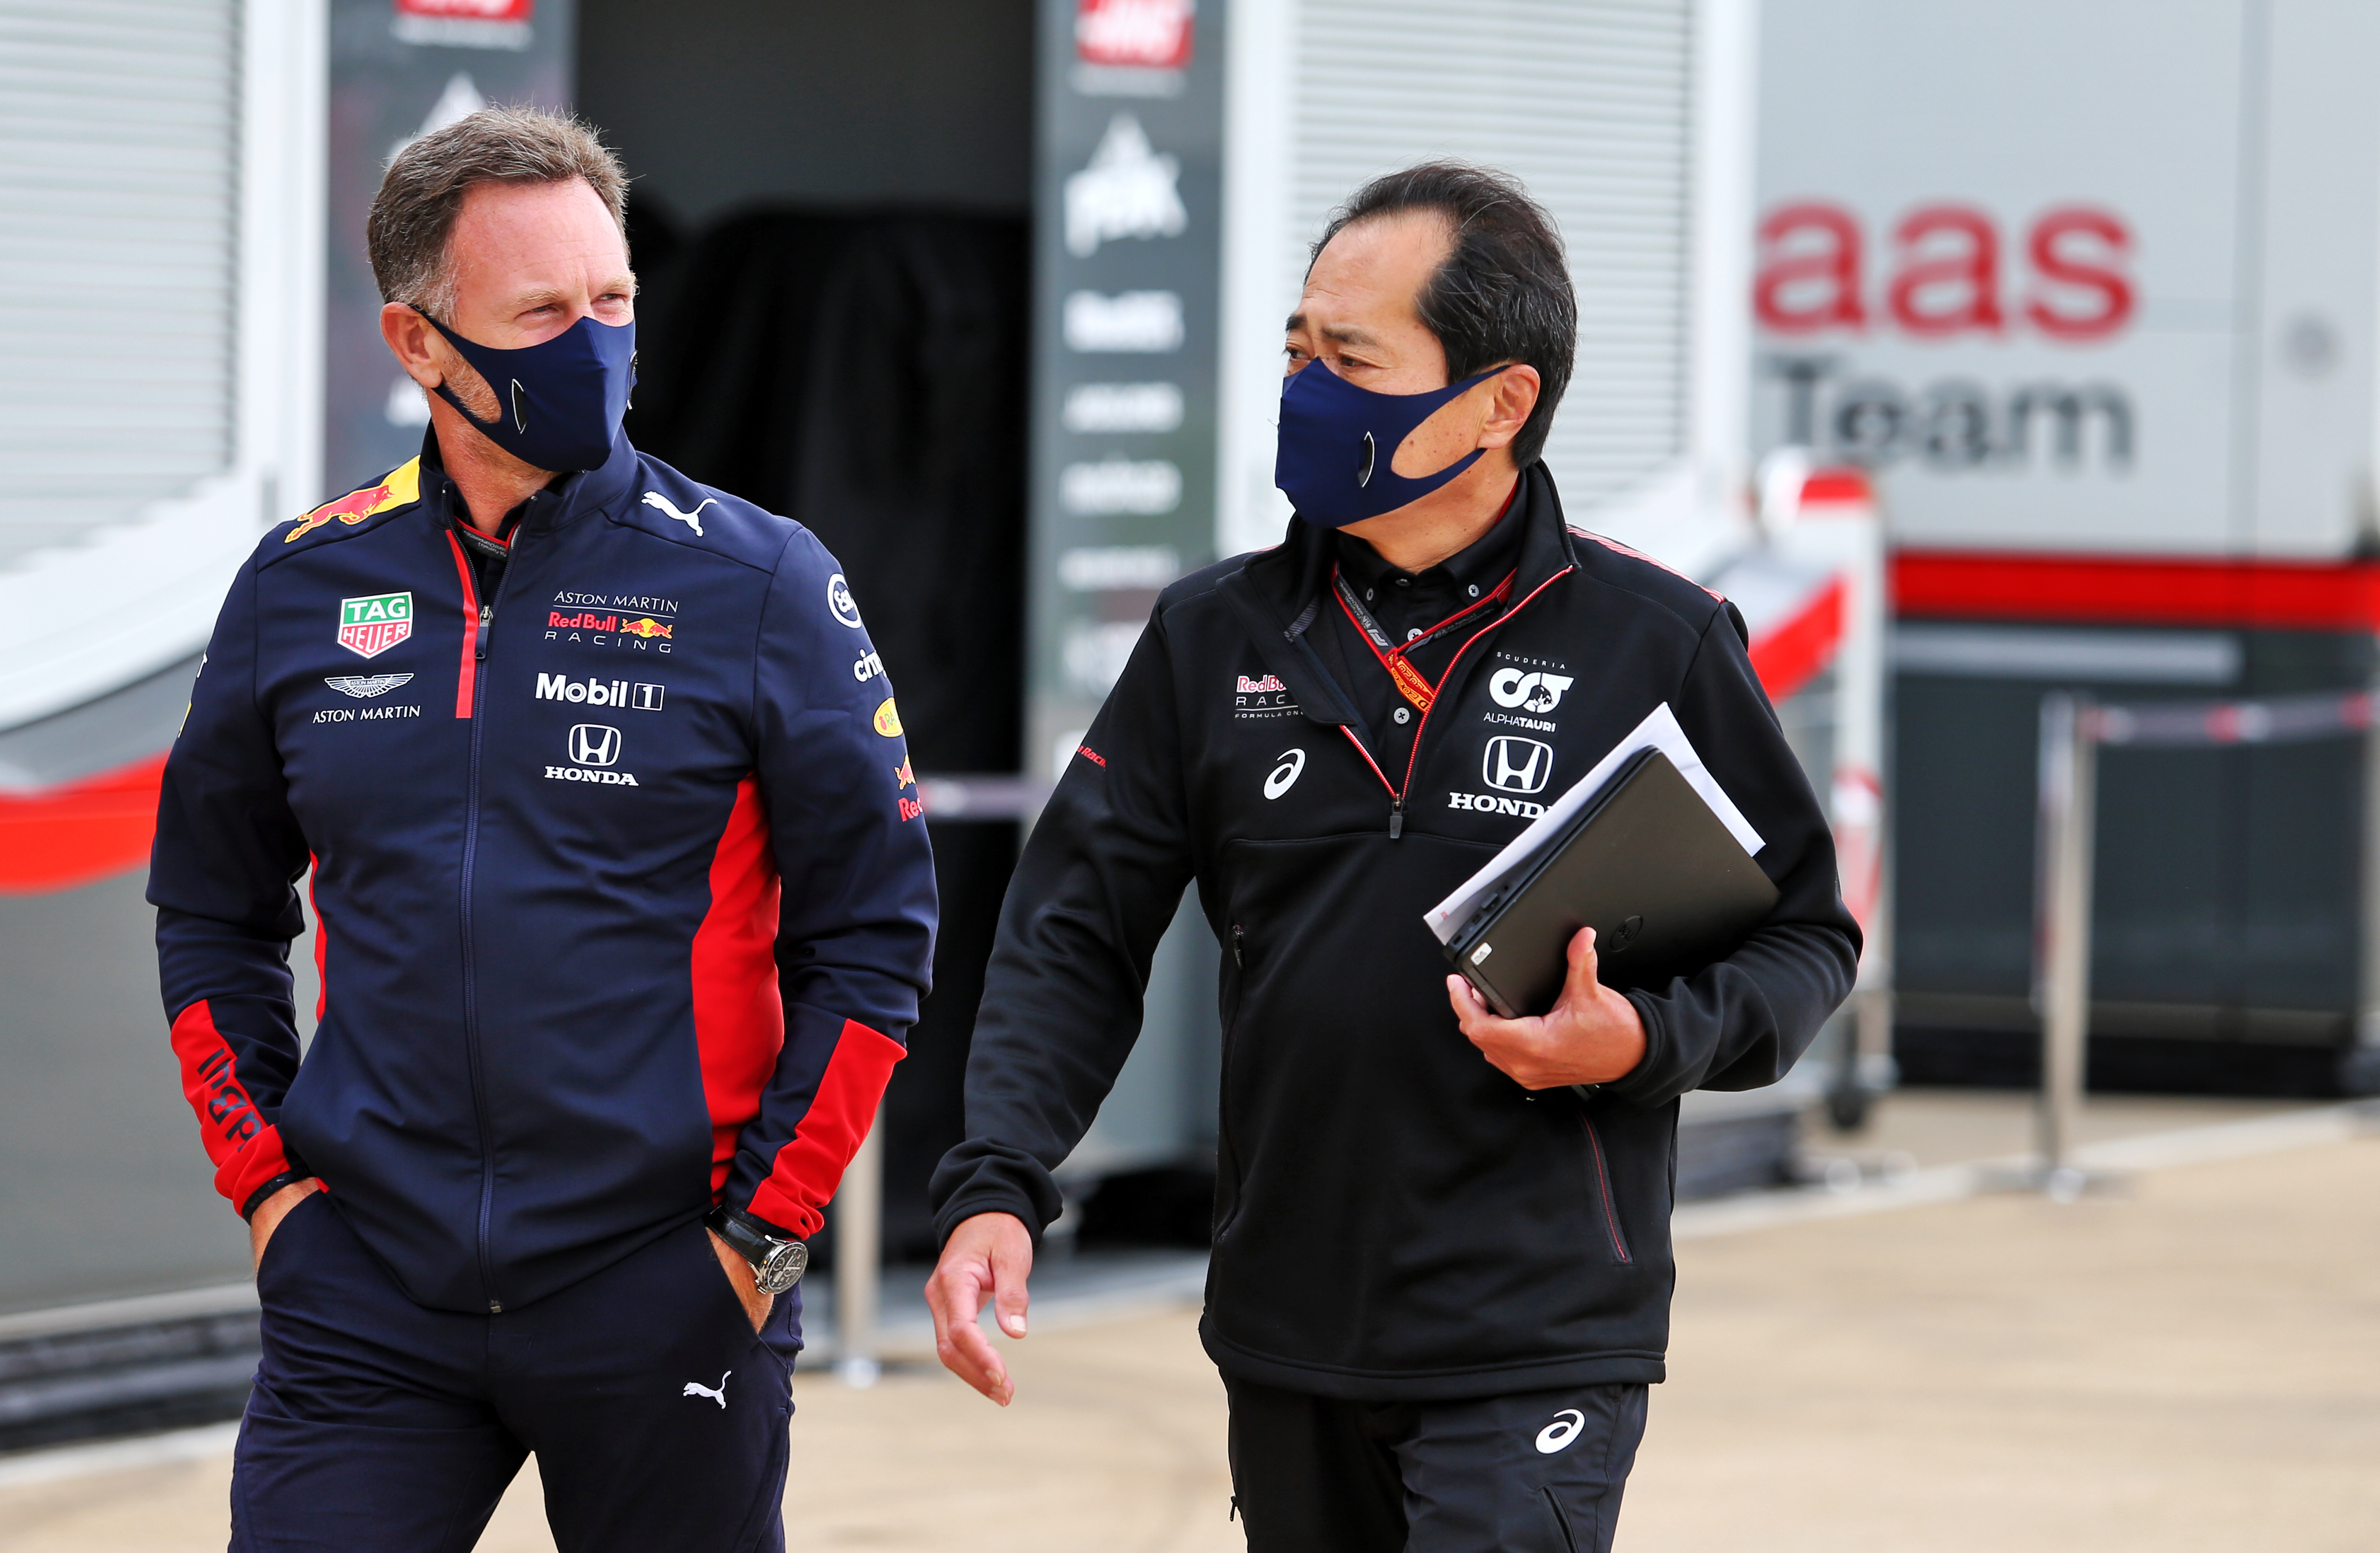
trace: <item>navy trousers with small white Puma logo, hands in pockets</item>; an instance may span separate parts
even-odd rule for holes
[[[800,1291],[754,1334],[700,1222],[533,1306],[426,1310],[298,1203],[257,1270],[264,1360],[233,1553],[466,1553],[536,1451],[562,1553],[778,1553]]]

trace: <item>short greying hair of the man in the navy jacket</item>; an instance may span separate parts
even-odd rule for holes
[[[628,171],[585,119],[543,107],[483,107],[395,155],[364,221],[371,278],[383,302],[433,319],[455,312],[447,240],[464,195],[478,183],[569,183],[583,178],[628,238]]]

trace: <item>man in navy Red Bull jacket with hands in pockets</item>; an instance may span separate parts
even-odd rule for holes
[[[469,1548],[528,1451],[562,1548],[783,1543],[793,1280],[933,870],[835,559],[619,435],[624,205],[531,109],[395,159],[431,433],[257,545],[167,763],[167,1018],[264,1306],[236,1548]]]

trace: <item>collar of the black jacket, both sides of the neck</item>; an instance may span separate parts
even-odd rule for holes
[[[1530,464],[1521,471],[1514,507],[1521,518],[1521,564],[1511,597],[1518,606],[1554,578],[1573,571],[1578,552],[1561,521],[1561,492],[1554,490],[1554,476],[1545,471],[1545,464]],[[1330,683],[1314,647],[1307,645],[1307,630],[1321,616],[1335,559],[1338,545],[1328,528],[1290,518],[1290,533],[1280,545],[1250,557],[1247,566],[1216,585],[1216,592],[1238,611],[1257,640],[1264,666],[1280,675],[1309,718],[1361,728],[1364,721]]]

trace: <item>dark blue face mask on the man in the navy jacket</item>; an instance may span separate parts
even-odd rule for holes
[[[495,390],[495,421],[474,416],[450,385],[440,383],[436,390],[483,438],[521,464],[555,473],[602,469],[612,457],[612,438],[619,435],[628,390],[635,388],[633,319],[597,323],[585,316],[552,340],[521,350],[476,345],[438,319],[431,319],[431,328]]]

